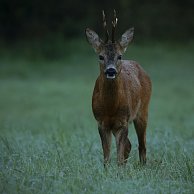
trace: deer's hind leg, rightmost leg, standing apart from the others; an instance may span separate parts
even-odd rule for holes
[[[140,163],[146,163],[146,127],[147,127],[147,111],[144,114],[137,115],[134,120],[134,126],[139,143],[139,159]]]

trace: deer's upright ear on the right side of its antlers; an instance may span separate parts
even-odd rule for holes
[[[134,34],[134,28],[130,28],[129,30],[127,30],[122,36],[121,39],[119,41],[120,46],[123,49],[123,52],[126,51],[127,46],[129,45],[129,43],[132,41],[133,39],[133,34]]]

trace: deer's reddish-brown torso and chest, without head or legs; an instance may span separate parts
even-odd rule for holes
[[[99,125],[117,130],[144,111],[151,94],[151,81],[135,61],[121,61],[121,72],[114,81],[100,74],[96,80],[92,109]]]

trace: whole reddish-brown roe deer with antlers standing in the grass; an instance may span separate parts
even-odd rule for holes
[[[133,122],[139,143],[139,158],[146,163],[146,126],[148,104],[151,96],[151,81],[135,61],[122,60],[122,54],[133,38],[134,28],[127,30],[115,41],[116,12],[112,21],[111,40],[103,11],[103,26],[106,39],[102,41],[93,30],[86,29],[86,37],[99,55],[100,75],[96,80],[92,110],[98,122],[102,141],[104,165],[110,160],[112,133],[116,139],[118,165],[127,162],[131,150],[128,139],[128,123]]]

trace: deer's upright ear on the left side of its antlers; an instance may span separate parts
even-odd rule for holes
[[[86,29],[86,38],[88,42],[92,45],[95,52],[98,53],[102,44],[98,34],[89,28]]]

